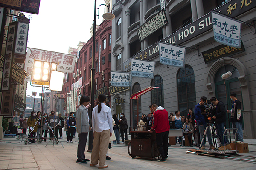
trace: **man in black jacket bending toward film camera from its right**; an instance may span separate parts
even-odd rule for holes
[[[216,106],[215,115],[212,117],[212,119],[215,119],[216,122],[216,130],[217,130],[217,136],[219,137],[221,141],[221,147],[218,148],[218,150],[224,150],[224,140],[225,140],[225,149],[232,149],[230,146],[230,142],[227,139],[227,136],[224,136],[223,139],[223,133],[225,131],[225,123],[226,123],[226,109],[223,102],[218,101],[216,97],[212,97],[210,99],[211,103]],[[226,132],[227,133],[227,132]]]

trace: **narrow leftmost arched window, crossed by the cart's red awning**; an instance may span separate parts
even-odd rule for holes
[[[132,94],[137,93],[138,91],[141,91],[140,84],[134,83],[134,86],[132,88]],[[138,100],[132,100],[132,126],[136,126],[137,122],[137,113],[139,111],[139,118],[141,116],[141,98]]]

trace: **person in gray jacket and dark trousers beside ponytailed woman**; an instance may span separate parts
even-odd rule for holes
[[[91,130],[89,124],[89,113],[88,109],[85,107],[90,102],[88,96],[82,96],[80,99],[80,106],[76,110],[76,131],[78,133],[78,146],[77,146],[77,160],[76,163],[84,163],[90,161],[85,159],[84,151],[87,141],[88,132]]]

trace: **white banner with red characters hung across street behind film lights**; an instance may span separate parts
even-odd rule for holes
[[[57,53],[53,51],[40,50],[35,48],[27,48],[25,71],[29,74],[27,81],[31,81],[31,75],[34,68],[34,60],[56,62],[58,63],[58,71],[65,73],[73,73],[75,68],[75,55]]]

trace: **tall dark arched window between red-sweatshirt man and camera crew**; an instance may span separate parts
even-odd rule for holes
[[[177,74],[177,88],[178,88],[178,110],[180,115],[186,116],[189,108],[195,108],[195,75],[194,70],[190,65],[185,65],[180,68]]]

